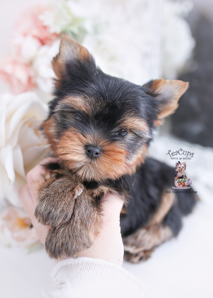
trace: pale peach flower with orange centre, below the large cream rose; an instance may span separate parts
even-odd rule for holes
[[[0,212],[0,242],[19,248],[39,243],[28,214],[21,208],[8,205]]]

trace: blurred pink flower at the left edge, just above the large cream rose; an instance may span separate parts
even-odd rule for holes
[[[32,67],[14,58],[5,57],[4,61],[1,61],[0,75],[4,81],[10,84],[13,94],[31,91],[36,87]]]

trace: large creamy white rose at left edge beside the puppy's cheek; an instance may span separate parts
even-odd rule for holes
[[[21,205],[18,189],[46,147],[38,129],[46,116],[47,105],[35,92],[0,97],[0,199],[13,205]]]

